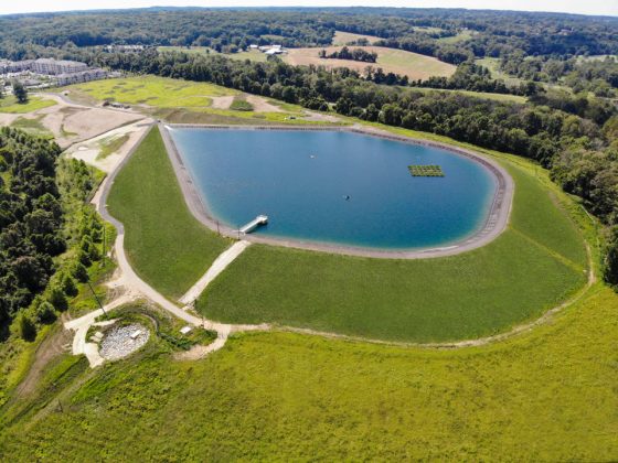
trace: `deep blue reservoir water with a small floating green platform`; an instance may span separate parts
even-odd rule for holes
[[[356,247],[445,246],[482,227],[496,180],[446,150],[340,131],[171,129],[209,213],[255,234]],[[413,177],[411,164],[446,176]],[[349,196],[349,200],[345,197]]]

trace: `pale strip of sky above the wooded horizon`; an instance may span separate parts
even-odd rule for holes
[[[556,11],[618,17],[618,0],[0,0],[0,14],[166,7],[408,7]]]

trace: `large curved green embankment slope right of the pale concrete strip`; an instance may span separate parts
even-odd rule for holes
[[[586,252],[534,171],[515,181],[511,225],[491,244],[438,259],[384,260],[253,246],[199,299],[222,322],[270,322],[406,342],[487,336],[540,316],[580,288]]]

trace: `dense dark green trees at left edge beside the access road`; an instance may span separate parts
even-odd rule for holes
[[[102,258],[103,223],[85,201],[95,187],[83,161],[60,147],[0,129],[0,333],[33,340],[56,320]]]

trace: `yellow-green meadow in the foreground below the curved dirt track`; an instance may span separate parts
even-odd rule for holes
[[[553,323],[477,348],[271,333],[174,362],[151,345],[73,392],[58,384],[64,412],[4,427],[0,456],[615,461],[617,313],[599,284]]]

